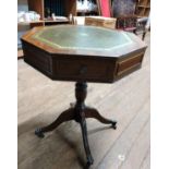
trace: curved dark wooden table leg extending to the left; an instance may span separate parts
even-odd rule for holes
[[[47,125],[47,126],[44,126],[44,128],[37,128],[35,130],[35,134],[38,136],[38,137],[44,137],[44,133],[46,132],[50,132],[52,130],[55,130],[58,125],[60,125],[62,122],[65,122],[65,121],[70,121],[70,120],[73,120],[74,119],[74,109],[73,108],[70,108],[65,111],[63,111],[57,120],[55,120],[51,124]]]

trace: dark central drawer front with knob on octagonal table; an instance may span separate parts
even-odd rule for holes
[[[109,63],[95,60],[58,60],[53,68],[57,76],[69,80],[106,80],[109,79]]]

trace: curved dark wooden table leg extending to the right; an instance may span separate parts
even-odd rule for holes
[[[112,121],[109,119],[104,118],[96,109],[94,108],[85,108],[85,117],[86,118],[94,118],[100,121],[101,123],[105,124],[111,124],[113,129],[117,129],[117,121]]]

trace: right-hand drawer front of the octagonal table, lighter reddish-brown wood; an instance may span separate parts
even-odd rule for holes
[[[122,76],[138,69],[142,64],[144,52],[128,57],[117,63],[116,76]]]

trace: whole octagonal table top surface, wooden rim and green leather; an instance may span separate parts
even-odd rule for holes
[[[121,57],[146,47],[132,33],[83,25],[35,27],[22,40],[50,53],[100,57]]]

